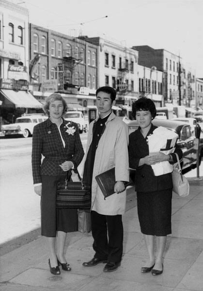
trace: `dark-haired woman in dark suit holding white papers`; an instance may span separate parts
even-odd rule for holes
[[[155,176],[151,165],[164,161],[174,163],[177,159],[174,153],[165,155],[159,152],[154,156],[149,155],[147,136],[157,128],[151,123],[156,116],[156,107],[151,99],[141,97],[135,101],[132,105],[132,115],[139,128],[129,135],[129,166],[136,169],[138,217],[149,255],[141,272],[151,271],[152,275],[160,275],[163,272],[166,237],[172,233],[172,174]],[[175,148],[175,152],[181,159],[182,150]]]

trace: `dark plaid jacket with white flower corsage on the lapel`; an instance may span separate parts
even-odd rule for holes
[[[63,119],[60,126],[65,147],[63,147],[57,125],[52,123],[49,118],[34,127],[31,155],[34,184],[41,183],[41,175],[64,175],[64,171],[59,166],[62,162],[72,161],[77,168],[82,161],[84,150],[79,137],[78,125],[71,122],[70,126],[76,129],[72,135],[66,132],[67,123]],[[42,155],[45,158],[41,162]]]

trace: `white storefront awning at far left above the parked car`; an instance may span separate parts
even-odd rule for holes
[[[30,92],[8,89],[1,89],[0,92],[10,102],[14,103],[16,108],[42,108],[42,103],[37,101]]]

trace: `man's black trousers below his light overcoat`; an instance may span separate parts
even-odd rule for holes
[[[123,254],[122,215],[103,215],[91,211],[95,258],[120,262]]]

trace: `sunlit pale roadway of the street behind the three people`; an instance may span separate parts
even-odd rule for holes
[[[87,133],[80,134],[80,138],[85,149]],[[31,173],[31,142],[31,137],[0,139],[0,244],[40,227],[40,197],[33,191]],[[82,166],[83,161],[79,173]],[[197,169],[185,176],[196,177]]]

